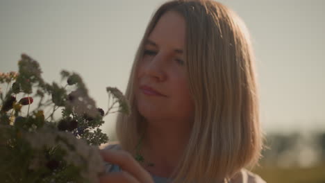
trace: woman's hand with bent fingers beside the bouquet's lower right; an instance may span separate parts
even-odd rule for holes
[[[124,150],[101,150],[106,162],[116,164],[122,171],[106,173],[99,177],[101,183],[153,183],[151,175]]]

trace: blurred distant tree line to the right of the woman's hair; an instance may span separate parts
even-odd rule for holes
[[[325,131],[267,134],[261,166],[311,167],[325,164]]]

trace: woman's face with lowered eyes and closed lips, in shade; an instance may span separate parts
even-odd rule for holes
[[[144,44],[138,64],[135,98],[147,120],[190,120],[194,105],[186,76],[185,20],[166,12]]]

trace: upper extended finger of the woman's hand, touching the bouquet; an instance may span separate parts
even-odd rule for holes
[[[100,153],[101,157],[103,157],[106,162],[117,164],[140,182],[153,182],[151,175],[135,161],[130,153],[124,150],[101,150]]]

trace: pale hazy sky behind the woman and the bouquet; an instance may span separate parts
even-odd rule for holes
[[[79,73],[106,109],[106,87],[124,92],[144,30],[163,2],[0,0],[0,71],[17,71],[26,53],[47,82],[60,81],[62,69]],[[219,2],[250,30],[263,130],[325,130],[325,1]],[[113,131],[114,119],[105,119],[104,131]]]

